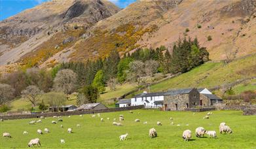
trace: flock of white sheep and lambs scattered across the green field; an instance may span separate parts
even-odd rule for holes
[[[130,110],[130,113],[133,113],[132,110]],[[138,113],[138,114],[139,114],[139,113]],[[209,118],[210,118],[209,116],[210,116],[211,114],[212,114],[212,112],[208,112],[207,116],[204,116],[204,119],[209,119]],[[98,115],[98,117],[100,117],[100,114],[97,114],[97,115]],[[82,115],[80,115],[80,116],[82,116]],[[71,116],[68,116],[68,118],[70,118],[70,117],[71,117]],[[91,117],[92,117],[92,118],[96,117],[96,114],[93,114]],[[44,117],[41,116],[40,118],[43,119]],[[53,116],[53,118],[58,118],[58,122],[63,122],[63,120],[61,119],[61,116]],[[41,119],[39,119],[39,120],[37,120],[37,121],[31,121],[31,122],[29,122],[29,125],[34,125],[34,124],[36,124],[36,123],[41,123],[41,122],[42,122]],[[107,120],[109,120],[109,118],[107,118]],[[170,121],[171,121],[171,124],[172,124],[172,125],[174,124],[174,122],[172,122],[173,120],[174,120],[173,118],[170,118]],[[3,120],[1,120],[1,121],[3,121]],[[103,118],[100,118],[100,121],[101,121],[101,122],[104,122],[104,119],[103,119]],[[120,122],[124,121],[124,115],[119,115],[119,121],[120,121],[120,122],[115,122],[115,121],[116,121],[116,118],[113,119],[113,125],[122,126],[122,124],[121,124]],[[140,122],[140,120],[139,120],[139,119],[136,119],[136,120],[134,120],[134,122]],[[53,121],[52,121],[52,124],[57,124],[57,122],[53,120]],[[143,124],[147,124],[147,122],[143,122]],[[156,122],[156,125],[162,125],[162,123],[161,123],[161,122]],[[189,124],[187,124],[187,125],[189,125]],[[179,126],[179,124],[177,124],[177,126]],[[60,125],[60,127],[63,128],[63,125]],[[77,124],[77,127],[81,127],[81,125],[80,125],[80,124]],[[44,131],[45,131],[45,133],[50,133],[50,130],[49,130],[48,128],[45,128]],[[67,129],[67,132],[68,132],[68,133],[72,133],[72,128],[68,128],[68,129]],[[197,127],[196,130],[195,130],[195,132],[196,132],[196,137],[202,137],[202,136],[204,137],[205,134],[209,135],[209,137],[211,137],[211,138],[216,138],[216,137],[217,137],[216,131],[206,131],[206,130],[204,129],[204,127]],[[220,132],[221,134],[222,134],[222,133],[231,134],[231,133],[232,133],[232,130],[230,129],[230,127],[229,127],[228,125],[225,124],[225,122],[222,122],[222,123],[219,125],[219,132]],[[37,133],[38,133],[39,135],[43,135],[43,131],[42,131],[41,129],[37,129]],[[24,135],[27,135],[28,132],[27,132],[27,131],[24,131],[23,134],[24,134]],[[128,136],[128,135],[129,135],[129,133],[126,133],[126,134],[124,134],[124,135],[120,135],[119,140],[120,140],[120,141],[125,141],[125,140],[127,139],[127,136]],[[3,133],[3,137],[9,137],[9,138],[11,138],[11,135],[10,135],[10,133]],[[156,132],[156,129],[155,129],[155,128],[149,129],[149,137],[151,137],[151,138],[157,137],[157,132]],[[192,132],[191,132],[191,130],[187,129],[187,130],[183,131],[182,137],[183,137],[184,141],[189,141],[189,140],[192,138]],[[64,139],[61,139],[60,142],[61,142],[61,143],[65,143]],[[31,139],[31,141],[29,141],[29,143],[28,143],[28,146],[29,146],[29,147],[35,146],[35,145],[41,146],[40,139],[38,139],[38,138],[36,138],[36,139]]]

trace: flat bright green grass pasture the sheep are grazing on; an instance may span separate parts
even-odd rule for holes
[[[138,113],[140,112],[140,114]],[[209,120],[203,116],[207,112],[164,112],[158,110],[134,110],[102,113],[100,117],[91,118],[89,114],[62,117],[64,122],[51,124],[56,118],[43,119],[41,124],[29,125],[28,122],[37,119],[6,120],[0,122],[0,133],[9,132],[12,138],[0,137],[0,148],[27,148],[31,139],[39,138],[42,148],[255,148],[256,147],[256,116],[243,116],[242,111],[213,111]],[[123,126],[112,125],[113,118],[124,114]],[[110,120],[106,120],[109,117]],[[174,125],[170,125],[170,117]],[[105,122],[100,122],[104,118]],[[134,122],[139,118],[141,122]],[[148,124],[143,124],[147,121]],[[162,122],[161,126],[156,122]],[[226,122],[233,131],[232,135],[220,135],[219,124]],[[60,125],[63,124],[64,128]],[[81,127],[76,127],[80,124]],[[180,126],[177,126],[180,124]],[[189,125],[187,125],[189,124]],[[202,126],[206,130],[217,131],[217,139],[209,137],[196,138],[194,130]],[[47,127],[50,133],[37,134],[37,129]],[[72,127],[74,133],[67,133]],[[155,127],[158,137],[149,138],[149,129]],[[192,131],[192,140],[183,141],[183,131]],[[28,135],[23,135],[28,131]],[[129,133],[126,141],[119,141],[119,136]],[[65,140],[65,144],[60,143]]]

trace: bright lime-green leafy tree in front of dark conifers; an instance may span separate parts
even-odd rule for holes
[[[94,82],[92,82],[92,86],[98,88],[98,91],[100,91],[100,93],[103,93],[105,91],[104,74],[102,70],[96,73],[94,77]]]

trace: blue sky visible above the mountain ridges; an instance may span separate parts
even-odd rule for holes
[[[45,1],[50,0],[0,0],[0,21],[10,16],[14,16],[22,10],[26,10],[27,8],[35,7]],[[64,0],[68,1],[68,0]],[[109,0],[115,3],[120,8],[125,8],[130,3],[133,3],[136,0]]]

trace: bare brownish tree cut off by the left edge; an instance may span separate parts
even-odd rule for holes
[[[0,105],[14,98],[14,89],[9,84],[0,84]]]

